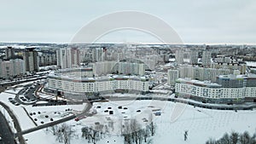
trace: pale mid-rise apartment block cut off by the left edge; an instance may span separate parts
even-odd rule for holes
[[[0,60],[0,77],[10,78],[25,74],[25,62],[20,59]]]

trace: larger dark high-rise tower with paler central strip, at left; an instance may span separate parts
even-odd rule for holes
[[[23,60],[25,61],[26,72],[38,72],[38,52],[35,48],[26,48],[23,53]]]

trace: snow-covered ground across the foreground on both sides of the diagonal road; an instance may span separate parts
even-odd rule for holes
[[[13,92],[13,91],[9,91]],[[131,95],[126,95],[131,96]],[[52,107],[32,107],[32,106],[15,106],[9,102],[9,98],[15,95],[9,93],[1,93],[0,101],[5,102],[20,120],[22,130],[27,130],[36,125],[32,119],[37,118],[36,124],[50,122],[50,118],[54,120],[67,116],[67,109],[73,109],[73,112],[82,111],[84,105],[72,106],[52,106]],[[120,107],[122,106],[122,107]],[[32,119],[27,116],[32,114]],[[183,107],[185,107],[183,109]],[[203,109],[200,107],[192,107],[186,104],[173,103],[170,101],[110,101],[94,103],[97,113],[92,117],[82,118],[78,122],[71,120],[67,122],[73,126],[75,135],[71,143],[86,142],[81,137],[81,128],[84,126],[94,125],[95,122],[100,124],[108,124],[109,119],[113,121],[114,129],[110,132],[112,135],[106,135],[98,144],[105,143],[123,143],[123,137],[119,136],[120,126],[124,119],[137,118],[137,121],[145,125],[149,115],[154,112],[161,112],[160,116],[154,116],[154,122],[157,124],[156,135],[153,136],[154,143],[161,144],[201,144],[205,143],[209,138],[218,139],[225,132],[235,130],[243,132],[247,130],[253,134],[256,130],[256,111],[220,111]],[[173,112],[174,108],[176,111]],[[182,111],[178,111],[181,109]],[[106,111],[108,110],[108,112]],[[138,111],[139,110],[139,111]],[[109,111],[113,111],[110,114]],[[40,114],[38,114],[40,112]],[[48,118],[45,118],[48,115]],[[177,120],[172,122],[171,118],[177,116]],[[146,119],[146,120],[145,120]],[[188,130],[188,141],[183,141],[184,131]],[[24,135],[29,144],[57,144],[55,136],[46,130],[38,130],[30,134]]]

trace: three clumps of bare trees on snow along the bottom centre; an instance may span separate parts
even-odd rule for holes
[[[137,119],[122,119],[119,121],[119,124],[116,125],[119,125],[119,127],[115,127],[112,119],[108,119],[106,124],[96,122],[93,125],[83,127],[81,129],[81,136],[88,143],[96,144],[97,141],[106,137],[106,134],[111,134],[114,128],[118,128],[120,135],[124,137],[125,144],[152,143],[151,137],[154,136],[156,129],[152,115],[149,115],[148,124],[143,124],[144,126]],[[73,130],[73,126],[65,123],[46,128],[46,132],[55,135],[55,140],[64,144],[70,144],[72,138],[79,139],[79,134]]]

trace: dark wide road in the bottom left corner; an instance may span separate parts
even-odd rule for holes
[[[9,124],[2,112],[0,112],[0,135],[2,137],[0,144],[16,144],[14,134],[12,130],[10,130]]]

